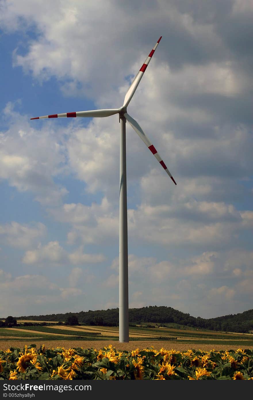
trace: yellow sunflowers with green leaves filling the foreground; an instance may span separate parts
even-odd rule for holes
[[[38,349],[31,344],[0,350],[1,380],[253,380],[253,350],[128,352],[112,345]]]

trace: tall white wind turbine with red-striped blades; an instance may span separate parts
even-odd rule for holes
[[[128,317],[128,254],[127,254],[127,186],[126,186],[126,120],[129,122],[131,127],[139,135],[141,140],[149,148],[151,153],[159,161],[161,166],[165,169],[165,172],[173,180],[168,168],[164,164],[163,160],[157,153],[157,150],[147,138],[139,124],[127,114],[127,106],[133,97],[135,90],[153,56],[155,49],[160,42],[161,37],[157,40],[157,43],[147,56],[144,64],[141,66],[139,72],[135,76],[133,82],[127,90],[124,104],[120,108],[113,108],[107,110],[91,110],[91,111],[78,111],[78,112],[66,112],[64,114],[51,114],[42,117],[31,118],[31,120],[38,120],[42,118],[61,118],[61,117],[109,117],[114,114],[119,114],[120,119],[120,257],[119,257],[119,281],[120,281],[120,295],[119,295],[119,341],[129,342],[129,317]]]

